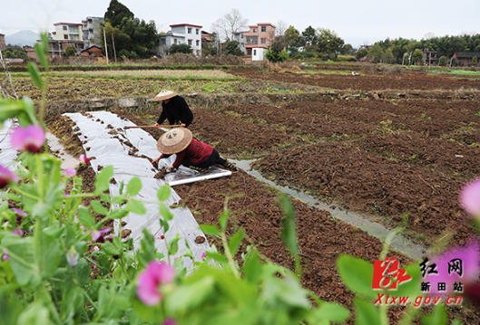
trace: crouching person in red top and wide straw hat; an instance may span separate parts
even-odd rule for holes
[[[177,158],[167,171],[171,171],[181,165],[191,169],[204,172],[208,167],[219,164],[230,170],[237,170],[237,167],[227,159],[221,158],[219,152],[197,139],[192,139],[190,129],[178,128],[171,129],[162,135],[157,142],[157,148],[162,153],[159,158],[154,158],[152,162],[158,163],[161,158],[169,158],[177,154]]]

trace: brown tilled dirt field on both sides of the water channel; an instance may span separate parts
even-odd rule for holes
[[[252,81],[295,82],[299,86],[333,91],[465,91],[454,96],[420,100],[335,99],[331,102],[292,101],[269,104],[225,105],[212,110],[192,108],[193,134],[232,158],[260,158],[254,167],[281,185],[301,188],[331,205],[368,215],[393,228],[407,216],[406,234],[426,245],[436,241],[466,244],[475,235],[457,196],[461,186],[479,175],[480,82],[451,77],[305,76],[286,73],[237,72]],[[450,96],[450,95],[448,95]],[[152,108],[150,119],[158,109]],[[145,115],[121,115],[144,124]],[[50,120],[50,123],[53,123]],[[146,129],[147,130],[147,129]],[[148,129],[158,139],[160,130]],[[281,211],[269,187],[240,171],[193,185],[177,186],[182,204],[199,223],[217,222],[224,196],[233,232],[243,226],[250,243],[275,263],[292,261],[279,238]],[[295,201],[304,285],[327,301],[351,307],[352,294],[340,283],[335,260],[350,253],[377,259],[381,244],[327,211]],[[451,234],[451,237],[448,235]],[[209,238],[215,243],[213,238]],[[248,244],[244,242],[244,246]],[[402,259],[407,258],[394,253]],[[335,285],[332,285],[335,283]],[[397,323],[402,311],[391,311]],[[479,323],[480,312],[457,309],[465,324]],[[351,320],[350,320],[351,322]]]

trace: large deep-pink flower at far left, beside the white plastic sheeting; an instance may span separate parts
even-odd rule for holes
[[[44,129],[37,125],[29,125],[26,128],[16,128],[10,137],[12,147],[18,151],[30,151],[34,154],[42,151],[45,142]]]

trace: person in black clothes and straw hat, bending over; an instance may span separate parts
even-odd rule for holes
[[[163,90],[153,98],[153,101],[162,101],[162,114],[160,114],[155,128],[159,128],[165,119],[171,125],[180,124],[182,128],[188,128],[193,120],[193,113],[189,105],[178,93]]]

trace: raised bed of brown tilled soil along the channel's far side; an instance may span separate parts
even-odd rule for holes
[[[465,182],[456,177],[328,143],[273,153],[254,166],[317,196],[340,200],[350,209],[384,215],[384,224],[390,226],[399,225],[407,214],[407,231],[420,238],[435,241],[451,231],[456,243],[465,244],[475,234],[458,206],[458,191]]]

